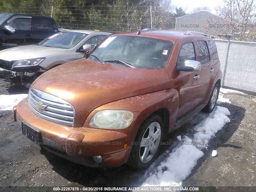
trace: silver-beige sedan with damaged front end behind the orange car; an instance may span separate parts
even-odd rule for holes
[[[108,32],[68,30],[38,44],[0,51],[0,76],[15,86],[29,88],[38,76],[61,64],[84,57]]]

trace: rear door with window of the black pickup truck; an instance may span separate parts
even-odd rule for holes
[[[57,33],[55,30],[55,23],[50,18],[32,17],[32,39],[34,44],[41,42],[49,36]]]

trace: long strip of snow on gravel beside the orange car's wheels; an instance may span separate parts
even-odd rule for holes
[[[142,186],[182,186],[182,182],[196,166],[197,160],[204,155],[201,150],[207,148],[207,143],[216,132],[230,122],[227,115],[230,115],[227,108],[217,106],[214,112],[194,127],[194,135],[190,138],[186,135],[181,136],[176,148],[168,154],[154,173],[150,174]]]

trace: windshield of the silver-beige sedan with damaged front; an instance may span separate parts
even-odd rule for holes
[[[59,32],[41,41],[38,45],[61,49],[74,48],[88,34],[79,32]]]

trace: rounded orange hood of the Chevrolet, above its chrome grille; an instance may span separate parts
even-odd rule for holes
[[[83,58],[45,72],[31,88],[72,104],[76,113],[75,126],[82,126],[95,108],[116,100],[168,89],[170,78],[166,69],[127,68]]]

